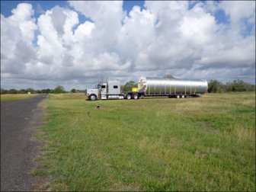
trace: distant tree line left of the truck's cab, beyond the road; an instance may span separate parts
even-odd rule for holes
[[[72,88],[71,91],[65,91],[65,89],[61,86],[58,85],[56,88],[50,89],[50,88],[45,88],[45,89],[40,89],[40,90],[34,90],[34,88],[27,88],[27,89],[4,89],[1,88],[1,94],[27,94],[30,92],[30,94],[60,94],[60,93],[82,93],[85,92],[84,90],[78,90],[75,88]]]

